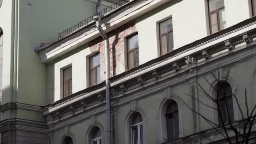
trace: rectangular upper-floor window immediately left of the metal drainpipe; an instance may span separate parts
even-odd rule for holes
[[[90,86],[101,82],[101,64],[99,53],[90,57]]]

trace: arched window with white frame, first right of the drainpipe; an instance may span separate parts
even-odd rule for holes
[[[143,120],[141,114],[136,112],[131,121],[132,144],[143,144]]]

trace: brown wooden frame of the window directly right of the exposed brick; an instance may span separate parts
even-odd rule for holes
[[[139,45],[138,45],[138,47],[134,47],[134,48],[131,48],[130,50],[128,50],[128,39],[132,38],[132,37],[134,37],[136,35],[138,35],[137,32],[132,34],[132,35],[129,35],[128,37],[125,38],[126,39],[127,68],[128,69],[132,69],[134,67],[138,67],[139,66],[139,65],[136,66],[136,53],[135,53],[136,49],[138,49],[138,51],[139,51]],[[139,38],[139,35],[138,35],[138,38]],[[138,39],[138,42],[139,42],[139,39]],[[132,51],[133,51],[133,67],[129,67],[129,53],[131,53]]]

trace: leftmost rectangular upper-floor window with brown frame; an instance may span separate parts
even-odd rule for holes
[[[63,69],[63,97],[72,94],[72,66]]]

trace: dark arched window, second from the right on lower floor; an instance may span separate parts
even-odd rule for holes
[[[173,140],[179,138],[179,112],[176,101],[171,101],[166,109],[166,128],[167,139]]]

